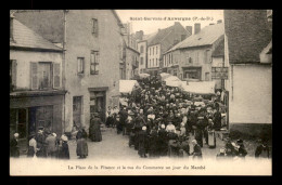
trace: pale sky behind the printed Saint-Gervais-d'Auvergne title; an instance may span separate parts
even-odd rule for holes
[[[132,32],[143,30],[144,35],[172,26],[175,22],[180,22],[183,27],[200,23],[201,28],[210,23],[216,24],[218,19],[223,22],[223,10],[116,10],[116,12],[123,23],[131,23]]]

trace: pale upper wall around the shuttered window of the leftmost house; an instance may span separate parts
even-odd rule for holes
[[[30,89],[30,62],[54,62],[62,64],[62,53],[10,50],[10,60],[16,60],[16,87]],[[62,65],[61,65],[62,84]]]

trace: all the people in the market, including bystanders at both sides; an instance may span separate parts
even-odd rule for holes
[[[182,91],[180,88],[167,87],[161,78],[138,80],[131,93],[123,94],[124,104],[107,107],[106,127],[116,128],[117,134],[128,136],[129,147],[138,150],[141,158],[146,157],[189,157],[202,158],[204,144],[216,148],[216,132],[225,128],[220,108],[222,94],[198,95]],[[89,134],[85,127],[76,129],[72,135],[64,133],[59,137],[43,127],[38,133],[30,133],[27,157],[69,159],[68,140],[76,141],[76,154],[87,158],[88,144],[101,142],[102,121],[99,113],[91,116]],[[190,148],[189,140],[193,148]],[[225,148],[219,149],[218,158],[244,158],[247,151],[244,142],[226,140]],[[20,157],[18,133],[10,140],[10,156]],[[255,157],[269,158],[266,141],[257,146]]]

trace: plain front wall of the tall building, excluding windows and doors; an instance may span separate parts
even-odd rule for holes
[[[92,35],[92,18],[98,19],[99,36]],[[70,10],[66,14],[66,131],[73,128],[73,96],[84,96],[82,125],[90,123],[88,88],[107,87],[106,107],[119,95],[120,29],[112,11]],[[90,52],[100,51],[99,75],[90,75]],[[77,75],[77,57],[85,57],[85,75]]]

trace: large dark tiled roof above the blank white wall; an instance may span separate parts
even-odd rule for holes
[[[259,63],[259,54],[272,40],[269,24],[267,10],[226,10],[229,63]]]

